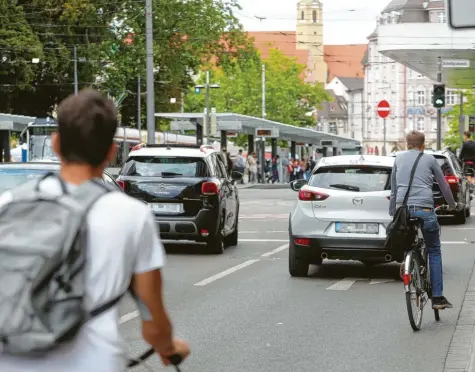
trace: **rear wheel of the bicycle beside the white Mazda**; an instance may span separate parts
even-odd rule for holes
[[[424,309],[424,290],[419,259],[414,251],[410,251],[406,256],[403,281],[409,323],[414,331],[419,331],[422,325],[422,311]]]

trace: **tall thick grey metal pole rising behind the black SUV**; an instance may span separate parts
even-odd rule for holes
[[[147,143],[155,144],[155,87],[153,76],[152,0],[145,0],[145,41],[147,55]]]

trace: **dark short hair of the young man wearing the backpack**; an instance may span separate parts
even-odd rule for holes
[[[114,103],[93,89],[66,98],[58,107],[61,156],[66,162],[100,166],[116,130]]]

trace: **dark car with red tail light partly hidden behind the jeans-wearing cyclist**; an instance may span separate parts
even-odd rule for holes
[[[453,216],[456,223],[464,224],[467,222],[467,218],[470,217],[471,213],[471,187],[470,182],[467,180],[467,177],[465,176],[462,167],[457,160],[457,157],[448,150],[425,150],[424,152],[426,154],[431,154],[436,158],[437,162],[442,168],[442,171],[444,172],[445,179],[452,190],[455,201],[463,205],[463,208],[457,211],[455,214],[453,214],[453,212],[447,211],[439,211],[437,214],[440,216]],[[393,155],[395,156],[396,154]],[[438,206],[446,204],[446,201],[442,196],[437,183],[434,183],[433,191],[435,205]]]

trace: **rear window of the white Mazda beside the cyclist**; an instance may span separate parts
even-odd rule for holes
[[[391,188],[391,168],[368,166],[321,167],[308,184],[324,189],[373,192]]]

